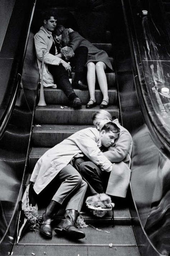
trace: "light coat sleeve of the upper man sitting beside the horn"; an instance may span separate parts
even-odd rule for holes
[[[51,53],[49,53],[47,39],[48,37],[45,38],[40,33],[37,33],[34,36],[34,43],[35,43],[37,58],[40,61],[42,61],[43,50],[44,50],[44,63],[58,66],[61,62],[61,58],[58,58],[55,55],[52,55]]]

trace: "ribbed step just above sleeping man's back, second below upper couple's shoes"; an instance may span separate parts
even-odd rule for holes
[[[91,125],[41,125],[34,126],[32,141],[34,146],[54,147],[76,131],[91,127]]]

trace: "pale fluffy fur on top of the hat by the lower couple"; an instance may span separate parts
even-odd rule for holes
[[[111,198],[105,193],[96,194],[86,199],[86,204],[94,207],[110,208],[112,207],[111,203]]]

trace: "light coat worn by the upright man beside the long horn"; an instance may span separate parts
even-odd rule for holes
[[[43,57],[43,50],[44,50],[43,86],[44,87],[52,86],[56,88],[57,86],[56,84],[54,84],[53,76],[48,71],[48,68],[47,68],[47,64],[58,66],[61,62],[61,58],[58,58],[57,56],[49,53],[49,50],[51,49],[51,46],[53,44],[52,33],[46,30],[42,26],[34,36],[34,43],[36,48],[37,63],[38,63],[40,77],[41,77],[42,57]]]

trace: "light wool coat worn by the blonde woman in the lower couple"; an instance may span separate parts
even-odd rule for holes
[[[131,153],[132,136],[118,119],[113,121],[119,128],[120,134],[116,142],[104,155],[113,163],[113,169],[110,173],[106,193],[111,196],[126,197],[129,181],[131,177]]]

